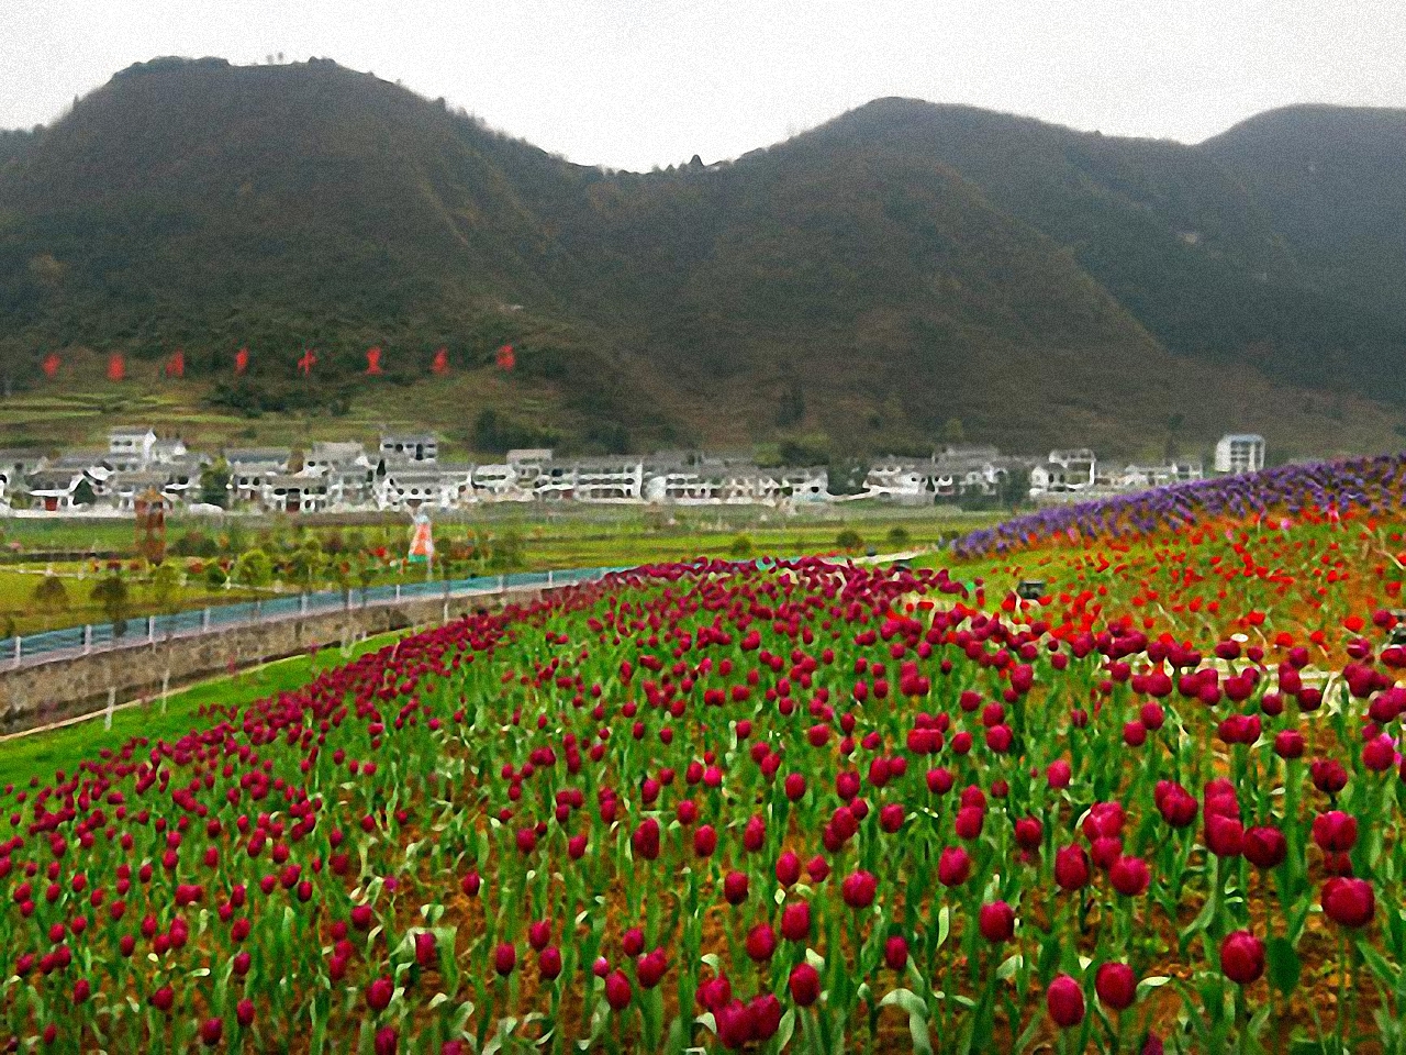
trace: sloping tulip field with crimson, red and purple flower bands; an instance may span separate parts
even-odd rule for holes
[[[209,708],[4,789],[0,1037],[1406,1052],[1403,491],[643,567]]]

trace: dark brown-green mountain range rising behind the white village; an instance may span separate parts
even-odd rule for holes
[[[0,359],[37,405],[48,350],[97,376],[124,350],[150,384],[183,346],[187,433],[380,412],[481,453],[1379,447],[1406,408],[1367,274],[1392,246],[1354,256],[1333,225],[1360,201],[1327,215],[1281,169],[1315,138],[1396,146],[1331,117],[1182,146],[879,100],[733,163],[607,173],[328,60],[160,59],[0,138]],[[1388,167],[1360,176],[1381,207]]]

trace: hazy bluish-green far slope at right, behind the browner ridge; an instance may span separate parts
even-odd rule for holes
[[[1316,113],[1320,127],[1299,129],[1303,149],[1315,136],[1331,143],[1339,120],[1355,121],[1354,111]],[[1406,125],[1406,114],[1382,113],[1395,115],[1395,127]],[[1254,127],[1198,149],[1074,132],[970,107],[879,100],[814,135],[835,149],[900,152],[953,166],[995,205],[1069,248],[1173,352],[1246,363],[1285,384],[1346,385],[1402,402],[1406,377],[1395,367],[1406,362],[1406,322],[1385,295],[1347,294],[1392,284],[1378,281],[1381,253],[1374,256],[1372,246],[1389,245],[1406,260],[1399,204],[1406,200],[1406,142],[1386,135],[1386,118],[1381,138],[1360,129],[1354,141],[1371,142],[1378,165],[1343,160],[1344,172],[1372,186],[1365,197],[1341,196],[1344,207],[1355,207],[1353,222],[1344,224],[1341,211],[1324,212],[1313,194],[1270,193],[1271,174],[1301,167],[1301,159],[1275,153],[1268,143],[1258,152],[1232,149],[1230,142],[1249,138]],[[1251,158],[1258,159],[1254,170],[1241,163]],[[1298,234],[1301,215],[1323,235],[1319,243]],[[1374,218],[1388,215],[1364,242]],[[1337,232],[1339,242],[1329,243],[1327,232]],[[1360,255],[1333,263],[1339,249]],[[1323,281],[1330,270],[1340,281]],[[1395,274],[1402,270],[1398,263]],[[1400,288],[1396,283],[1395,295]]]

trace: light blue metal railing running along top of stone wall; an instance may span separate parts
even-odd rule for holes
[[[0,663],[11,667],[46,660],[84,656],[107,648],[153,644],[173,637],[194,637],[240,626],[280,619],[298,619],[328,612],[398,605],[405,601],[443,599],[503,594],[510,589],[553,589],[576,582],[593,582],[619,568],[567,568],[562,571],[519,571],[508,575],[477,575],[427,582],[396,582],[387,587],[319,589],[307,594],[247,601],[233,605],[193,608],[170,615],[141,616],[124,623],[91,623],[15,634],[0,639]]]

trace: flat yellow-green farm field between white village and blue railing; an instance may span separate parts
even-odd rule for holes
[[[318,519],[177,520],[167,533],[167,563],[177,574],[160,585],[145,561],[134,563],[131,520],[10,520],[0,537],[13,547],[8,561],[0,564],[0,639],[107,622],[110,613],[91,591],[114,567],[127,587],[124,612],[129,620],[302,588],[357,589],[423,581],[423,565],[406,565],[402,560],[406,523],[394,516],[364,519],[364,523],[349,525]],[[485,509],[474,519],[460,515],[436,526],[436,544],[447,561],[441,560],[434,574],[463,578],[501,571],[630,567],[695,557],[838,554],[844,551],[839,540],[846,530],[852,532],[846,542],[855,553],[924,549],[995,519],[994,513],[931,506],[855,506],[794,518],[755,508],[672,511],[672,516],[645,515],[636,508]],[[312,561],[304,556],[309,547]],[[252,549],[264,551],[271,564],[269,575],[257,584],[238,581],[235,570],[239,557]],[[118,564],[108,558],[24,560],[27,551],[35,550],[117,554]],[[207,575],[211,564],[221,564],[228,573],[219,577],[219,585]],[[34,591],[46,573],[62,580],[62,601],[37,602]],[[224,578],[235,581],[226,587]]]

